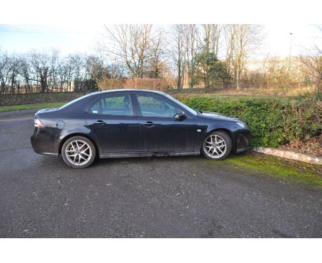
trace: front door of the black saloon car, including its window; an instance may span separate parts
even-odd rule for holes
[[[182,112],[179,106],[162,96],[137,94],[142,131],[142,151],[148,153],[184,154],[195,151],[197,130],[195,120],[187,115],[176,120]]]

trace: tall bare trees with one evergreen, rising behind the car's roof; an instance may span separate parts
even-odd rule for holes
[[[200,80],[206,89],[234,80],[239,89],[241,72],[260,45],[260,34],[259,25],[113,25],[105,26],[98,50],[127,65],[134,78],[158,78],[171,65],[178,90],[185,76],[190,88]]]

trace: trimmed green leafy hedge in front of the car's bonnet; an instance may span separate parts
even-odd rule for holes
[[[245,121],[252,146],[277,147],[321,134],[321,98],[258,98],[249,96],[175,96],[193,109],[219,112]]]

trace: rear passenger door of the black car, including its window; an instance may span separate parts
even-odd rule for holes
[[[126,156],[140,151],[140,120],[130,93],[101,96],[87,110],[86,122],[103,154]]]

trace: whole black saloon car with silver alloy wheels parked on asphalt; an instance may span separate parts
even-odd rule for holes
[[[202,153],[222,160],[246,151],[250,131],[237,118],[194,110],[163,92],[95,92],[34,116],[37,154],[61,154],[73,168],[95,158]]]

